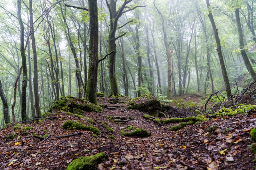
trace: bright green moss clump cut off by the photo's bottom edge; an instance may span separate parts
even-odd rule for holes
[[[108,156],[102,152],[89,157],[80,157],[74,159],[67,167],[67,170],[93,170],[102,160],[107,159]]]

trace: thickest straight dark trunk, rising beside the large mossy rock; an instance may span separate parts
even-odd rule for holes
[[[89,0],[89,20],[90,20],[90,36],[89,36],[89,68],[85,99],[97,104],[97,76],[98,76],[98,44],[99,44],[99,24],[98,24],[98,6],[97,1]]]

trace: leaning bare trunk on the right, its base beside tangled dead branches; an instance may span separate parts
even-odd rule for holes
[[[213,29],[214,36],[215,36],[215,41],[216,41],[216,44],[217,44],[217,52],[218,52],[218,56],[219,56],[219,60],[220,60],[220,67],[221,67],[221,70],[222,70],[222,76],[223,76],[225,87],[226,87],[227,97],[228,97],[228,99],[230,99],[232,97],[232,94],[231,94],[230,84],[229,84],[229,80],[228,80],[228,73],[227,73],[227,70],[226,70],[226,66],[225,66],[222,51],[221,51],[218,29],[217,29],[217,27],[215,25],[215,22],[214,22],[214,19],[213,19],[212,10],[211,10],[209,0],[206,0],[206,4],[207,4],[207,7],[209,9],[208,17],[211,21],[212,29]],[[210,74],[211,74],[211,72],[210,72]]]

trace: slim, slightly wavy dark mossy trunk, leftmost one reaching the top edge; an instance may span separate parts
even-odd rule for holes
[[[17,2],[18,7],[18,20],[20,23],[20,55],[22,58],[22,73],[23,73],[23,79],[22,79],[22,88],[21,88],[21,119],[22,121],[27,120],[27,113],[26,113],[26,89],[28,84],[28,73],[27,73],[27,59],[25,54],[25,45],[24,45],[24,25],[21,18],[21,0],[18,0]]]

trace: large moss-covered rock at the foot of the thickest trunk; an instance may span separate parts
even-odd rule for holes
[[[75,108],[75,109],[74,109]],[[84,114],[84,112],[79,112],[79,110],[87,111],[87,112],[100,112],[102,113],[102,107],[90,103],[87,100],[76,98],[72,96],[66,96],[65,98],[61,98],[60,100],[55,101],[48,112],[57,112],[59,110],[67,111],[67,112],[76,112],[75,114]]]

